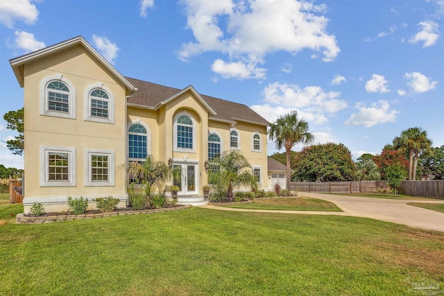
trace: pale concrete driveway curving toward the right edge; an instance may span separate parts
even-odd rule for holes
[[[382,198],[361,198],[308,192],[300,192],[298,195],[333,202],[350,216],[373,218],[444,232],[444,213],[407,204],[410,202],[444,204],[444,200],[384,200]]]

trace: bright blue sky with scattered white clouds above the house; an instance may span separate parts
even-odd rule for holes
[[[316,143],[354,157],[413,126],[441,146],[443,19],[444,0],[2,0],[0,164],[23,167],[5,143],[3,114],[23,107],[8,60],[78,35],[124,76],[193,85],[271,122],[298,110]]]

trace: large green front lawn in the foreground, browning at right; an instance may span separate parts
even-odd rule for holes
[[[0,227],[0,295],[406,295],[444,234],[368,218],[192,208]]]

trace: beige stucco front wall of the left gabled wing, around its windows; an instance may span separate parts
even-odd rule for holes
[[[76,119],[40,114],[40,82],[62,75],[76,89]],[[114,96],[114,124],[84,120],[84,92],[96,83],[108,87]],[[72,99],[72,98],[71,98]],[[126,196],[125,119],[126,88],[82,46],[53,53],[24,65],[25,200],[72,196]],[[76,148],[76,186],[40,186],[40,146]],[[84,149],[114,150],[115,186],[84,186]],[[48,205],[49,207],[49,205]],[[25,211],[28,211],[25,203]],[[45,207],[46,209],[46,207]],[[48,211],[49,209],[46,209]]]

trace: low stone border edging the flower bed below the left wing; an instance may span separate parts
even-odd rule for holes
[[[100,214],[83,214],[83,215],[57,215],[57,216],[40,216],[40,217],[28,217],[24,214],[17,214],[15,220],[18,224],[44,224],[44,223],[54,223],[68,220],[85,220],[85,219],[95,219],[95,218],[106,218],[112,216],[125,216],[125,215],[139,215],[139,214],[154,214],[162,213],[165,211],[182,211],[184,209],[189,209],[191,205],[186,205],[184,207],[170,207],[162,209],[144,209],[139,211],[112,211],[110,213],[100,213]]]

